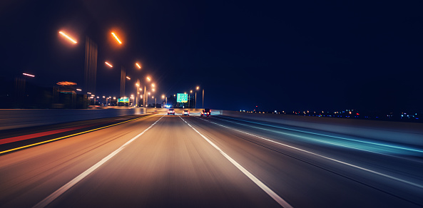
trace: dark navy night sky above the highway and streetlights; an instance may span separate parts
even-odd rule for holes
[[[206,108],[422,110],[419,2],[7,0],[1,76],[82,88],[89,36],[98,44],[97,95],[118,96],[124,66],[132,78],[152,76],[159,96],[200,85]]]

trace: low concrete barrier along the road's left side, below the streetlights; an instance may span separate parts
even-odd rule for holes
[[[0,110],[0,130],[144,113],[147,113],[146,108],[5,109]]]

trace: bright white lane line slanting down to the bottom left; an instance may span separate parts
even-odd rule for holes
[[[46,199],[43,199],[41,202],[39,202],[38,204],[36,204],[34,206],[34,208],[46,207],[48,204],[50,204],[51,202],[53,202],[54,199],[56,199],[61,194],[63,194],[64,192],[66,192],[68,189],[70,189],[71,187],[73,187],[73,185],[75,185],[76,183],[78,183],[81,180],[83,180],[84,177],[86,177],[91,172],[93,172],[94,170],[96,170],[98,167],[100,167],[101,165],[103,165],[105,162],[107,162],[108,160],[110,160],[113,156],[115,156],[116,154],[118,154],[118,152],[121,152],[121,150],[123,150],[125,147],[127,147],[131,142],[133,142],[134,140],[136,140],[138,137],[140,137],[141,135],[143,135],[147,130],[151,129],[153,127],[153,125],[155,125],[156,123],[158,123],[158,121],[161,118],[163,118],[163,116],[160,117],[158,120],[156,120],[156,122],[153,123],[150,127],[146,128],[146,130],[143,130],[143,132],[141,132],[140,134],[138,134],[135,137],[133,137],[131,140],[129,140],[128,142],[126,142],[125,144],[123,144],[117,150],[115,150],[114,152],[111,152],[110,155],[107,155],[106,157],[104,157],[103,160],[100,160],[100,162],[97,162],[96,165],[93,165],[92,167],[88,168],[88,170],[84,171],[83,173],[81,173],[80,175],[78,175],[77,177],[75,177],[73,180],[71,180],[70,182],[68,182],[67,184],[64,184],[63,187],[57,189],[56,192],[53,192],[52,194],[49,195],[49,197],[46,197]]]

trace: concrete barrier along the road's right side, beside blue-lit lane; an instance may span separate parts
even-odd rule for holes
[[[355,137],[423,147],[422,123],[322,118],[272,113],[243,113],[230,110],[212,110],[212,115],[226,115],[235,118],[267,121],[300,128],[323,130]]]

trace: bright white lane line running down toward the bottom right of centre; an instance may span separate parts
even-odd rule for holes
[[[203,139],[206,140],[210,145],[212,145],[213,147],[215,147],[215,149],[218,150],[220,152],[220,154],[223,155],[223,157],[226,157],[226,159],[228,159],[229,162],[231,162],[233,165],[235,165],[235,167],[237,167],[238,170],[240,170],[241,172],[243,172],[243,174],[245,174],[248,178],[250,178],[250,180],[252,180],[255,184],[257,184],[258,187],[260,187],[261,189],[263,189],[263,191],[265,191],[267,194],[269,194],[270,197],[272,197],[273,199],[275,199],[275,201],[278,204],[280,204],[282,207],[285,207],[285,208],[291,208],[292,207],[284,199],[282,199],[282,197],[280,197],[275,192],[273,192],[272,189],[270,189],[263,182],[261,182],[260,180],[258,180],[257,177],[255,177],[250,172],[248,172],[248,170],[245,170],[245,168],[243,166],[241,166],[238,162],[236,162],[235,160],[233,160],[232,157],[230,157],[225,152],[223,152],[223,150],[220,150],[220,148],[218,146],[216,146],[212,141],[210,141],[207,137],[205,137],[200,132],[198,132],[198,130],[196,130],[195,128],[193,128],[192,125],[190,125],[189,123],[187,123],[183,118],[180,118],[180,119],[182,119],[186,124],[188,124],[190,126],[190,128],[192,128],[193,130],[195,130],[195,132],[197,132],[201,137],[203,137]]]

